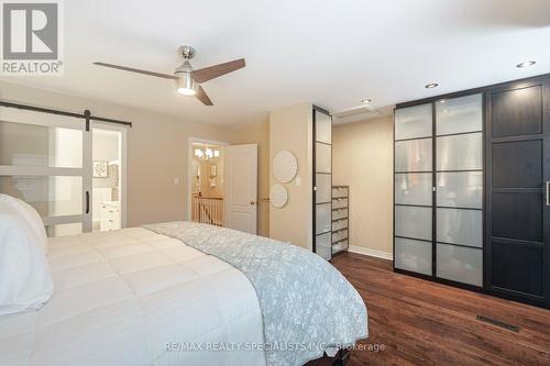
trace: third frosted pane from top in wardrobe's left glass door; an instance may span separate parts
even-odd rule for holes
[[[431,173],[396,174],[395,203],[431,206]]]

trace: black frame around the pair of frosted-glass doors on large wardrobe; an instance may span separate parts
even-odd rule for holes
[[[452,92],[452,93],[447,93],[447,95],[441,95],[441,96],[435,96],[435,97],[430,97],[430,98],[426,98],[426,99],[421,99],[421,100],[416,100],[416,101],[411,101],[411,102],[405,102],[405,103],[399,103],[395,107],[394,109],[394,181],[393,181],[393,228],[394,228],[394,233],[393,233],[393,253],[394,253],[394,260],[392,262],[392,267],[393,267],[393,270],[395,273],[398,273],[398,274],[403,274],[403,275],[408,275],[408,276],[411,276],[411,277],[417,277],[417,278],[421,278],[421,279],[427,279],[427,280],[430,280],[430,281],[435,281],[435,282],[439,282],[439,284],[443,284],[443,285],[449,285],[449,286],[453,286],[453,287],[458,287],[458,288],[463,288],[463,289],[468,289],[468,290],[472,290],[472,291],[476,291],[476,292],[486,292],[485,290],[485,287],[486,287],[486,282],[485,282],[485,279],[486,279],[486,275],[485,275],[485,270],[486,270],[486,266],[485,266],[485,247],[486,247],[486,240],[485,240],[485,232],[486,232],[486,164],[485,164],[485,141],[486,141],[486,137],[485,137],[485,134],[486,134],[486,97],[485,97],[485,90],[487,88],[475,88],[475,89],[469,89],[469,90],[464,90],[464,91],[458,91],[458,92]],[[454,280],[450,280],[450,279],[446,279],[446,278],[440,278],[437,276],[437,208],[438,208],[438,204],[437,204],[437,190],[433,189],[433,187],[437,187],[437,175],[438,175],[438,170],[437,170],[437,113],[436,113],[436,103],[442,99],[454,99],[454,98],[461,98],[461,97],[469,97],[469,96],[472,96],[472,95],[482,95],[482,173],[483,173],[483,189],[482,189],[482,195],[483,195],[483,198],[482,198],[482,220],[483,220],[483,235],[482,235],[482,247],[481,247],[481,251],[482,251],[482,257],[483,257],[483,286],[475,286],[475,285],[470,285],[470,284],[464,284],[464,282],[459,282],[459,281],[454,281]],[[395,110],[397,109],[402,109],[402,108],[408,108],[408,107],[416,107],[416,106],[421,106],[421,104],[431,104],[431,127],[432,127],[432,132],[431,132],[431,137],[425,137],[425,138],[431,138],[431,143],[432,143],[432,221],[431,221],[431,268],[432,268],[432,273],[431,273],[431,276],[430,275],[425,275],[425,274],[419,274],[419,273],[415,273],[415,271],[410,271],[410,270],[407,270],[407,269],[400,269],[400,268],[397,268],[395,267],[395,206],[396,206],[396,202],[395,202]],[[450,134],[446,134],[444,136],[453,136],[453,135],[462,135],[462,134],[471,134],[471,133],[475,133],[475,132],[468,132],[468,133],[450,133]],[[460,246],[460,245],[459,245]]]

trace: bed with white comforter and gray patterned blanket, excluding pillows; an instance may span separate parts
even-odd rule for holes
[[[228,242],[228,239],[232,240]],[[250,245],[235,249],[233,244],[242,242]],[[207,246],[211,243],[220,245],[211,249]],[[322,329],[327,325],[322,320],[311,325],[310,317],[327,315],[320,310],[308,309],[316,306],[311,301],[288,300],[294,292],[287,291],[284,303],[271,303],[277,300],[270,298],[267,304],[266,295],[262,293],[274,291],[275,285],[271,282],[285,275],[271,274],[268,286],[272,287],[262,289],[258,278],[266,279],[263,269],[256,267],[254,274],[250,274],[249,269],[254,267],[251,258],[258,259],[262,267],[270,267],[266,264],[268,255],[251,252],[262,243],[284,245],[285,249],[290,246],[228,229],[186,222],[50,239],[47,263],[55,290],[37,311],[0,317],[1,363],[300,365],[320,357],[323,351],[329,353],[367,336],[366,309],[362,300],[361,304],[350,304],[350,311],[355,311],[350,320],[337,314],[340,323],[328,326],[332,328],[329,330]],[[223,253],[229,253],[226,257],[221,252],[216,253],[221,246]],[[252,254],[246,257],[244,252]],[[235,264],[229,255],[246,260]],[[317,256],[309,252],[306,257],[322,270],[338,273],[324,268],[331,265],[317,262]],[[280,263],[285,259],[292,262],[288,255],[286,258],[279,256]],[[276,268],[284,267],[277,264]],[[359,301],[359,295],[353,297],[354,289],[343,276],[339,273],[323,275],[322,270],[318,275],[334,276],[341,282],[339,286],[348,291],[345,293],[351,293],[351,300],[336,293],[334,301]],[[293,281],[296,279],[287,282]],[[286,282],[283,284],[286,288]],[[319,299],[326,296],[329,295],[320,293]],[[296,314],[298,320],[290,321],[304,322],[304,328],[289,330],[287,323],[274,319],[277,315],[270,311]],[[286,341],[285,334],[297,344],[307,343],[307,334],[298,340],[292,333],[306,328],[314,334],[311,340],[322,339],[320,350],[273,350],[273,340]],[[295,364],[297,359],[300,361]]]

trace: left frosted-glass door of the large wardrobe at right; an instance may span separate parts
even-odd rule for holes
[[[394,267],[432,275],[432,104],[395,111]]]

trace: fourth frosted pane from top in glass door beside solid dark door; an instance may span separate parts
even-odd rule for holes
[[[483,211],[437,209],[438,242],[483,246]]]

